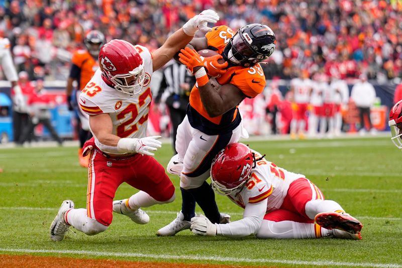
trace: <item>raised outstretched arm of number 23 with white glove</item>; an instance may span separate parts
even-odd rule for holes
[[[194,37],[198,30],[210,31],[208,23],[216,23],[218,14],[213,10],[205,10],[199,15],[192,17],[182,28],[174,32],[166,42],[153,53],[152,66],[157,70],[165,65],[181,48],[185,47]]]

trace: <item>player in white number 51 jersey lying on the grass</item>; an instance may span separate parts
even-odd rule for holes
[[[361,239],[362,224],[337,202],[324,200],[320,189],[304,175],[276,166],[245,144],[233,143],[218,153],[211,181],[218,194],[244,208],[243,219],[212,224],[197,216],[191,219],[194,234]]]

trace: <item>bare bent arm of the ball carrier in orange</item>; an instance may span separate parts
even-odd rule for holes
[[[246,95],[233,84],[220,85],[215,78],[199,87],[199,95],[207,113],[211,117],[217,117],[233,109]]]

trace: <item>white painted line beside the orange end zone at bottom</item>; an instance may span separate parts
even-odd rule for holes
[[[360,267],[392,267],[400,268],[402,265],[396,263],[370,263],[370,262],[340,262],[331,260],[287,260],[287,259],[267,259],[267,258],[237,258],[221,256],[201,256],[201,255],[167,255],[167,254],[144,254],[144,253],[119,253],[105,251],[87,251],[87,250],[51,250],[51,249],[26,249],[26,248],[0,248],[3,252],[23,252],[23,253],[58,253],[58,254],[82,254],[92,256],[113,256],[113,257],[142,257],[155,259],[191,259],[191,260],[216,260],[224,262],[247,262],[247,263],[281,263],[296,265],[320,265],[320,266],[360,266]]]

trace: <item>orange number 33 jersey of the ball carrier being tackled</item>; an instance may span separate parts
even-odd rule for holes
[[[234,35],[235,32],[228,26],[214,27],[211,32],[205,35],[208,41],[208,49],[215,50],[217,53],[222,54],[225,46]],[[231,83],[235,85],[248,98],[254,98],[260,94],[265,87],[265,75],[260,64],[256,64],[252,67],[229,67],[225,74],[216,79],[220,84]],[[240,118],[237,118],[239,117],[237,107],[226,112],[224,115],[210,117],[201,101],[198,87],[195,85],[190,94],[190,106],[200,116],[216,125],[222,126],[231,124],[236,119],[240,121]]]

